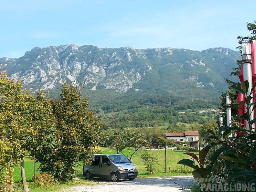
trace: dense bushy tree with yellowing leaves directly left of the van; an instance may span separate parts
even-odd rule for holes
[[[88,100],[74,85],[64,84],[60,99],[53,99],[53,114],[57,120],[58,146],[39,156],[40,171],[59,180],[71,179],[80,161],[86,161],[97,147],[102,132],[101,120],[88,108]]]

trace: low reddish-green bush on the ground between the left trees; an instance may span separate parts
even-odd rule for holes
[[[34,176],[32,177],[32,182],[34,182]],[[36,182],[31,183],[30,187],[53,187],[56,184],[54,177],[47,174],[47,173],[41,173],[36,174]]]

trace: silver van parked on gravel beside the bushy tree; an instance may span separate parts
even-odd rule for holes
[[[112,182],[119,179],[133,180],[138,171],[133,163],[123,154],[96,154],[91,165],[83,165],[83,176],[110,178]]]

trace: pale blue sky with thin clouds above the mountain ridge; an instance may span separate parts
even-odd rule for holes
[[[99,48],[223,47],[249,36],[255,0],[0,0],[0,57],[66,44]],[[244,13],[242,10],[244,9]]]

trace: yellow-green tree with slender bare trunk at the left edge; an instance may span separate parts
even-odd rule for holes
[[[25,151],[31,153],[35,148],[51,143],[48,138],[54,132],[54,121],[45,105],[22,89],[21,81],[9,80],[4,72],[1,73],[0,92],[0,143],[4,149],[0,158],[6,164],[1,170],[11,170],[20,162],[23,190],[29,191],[24,168]],[[9,178],[11,174],[7,174]]]

